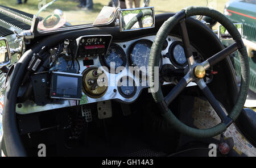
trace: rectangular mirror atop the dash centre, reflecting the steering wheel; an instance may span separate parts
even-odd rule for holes
[[[155,27],[154,7],[121,9],[119,11],[120,31],[135,31]]]

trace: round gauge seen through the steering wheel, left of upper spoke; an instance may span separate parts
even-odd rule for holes
[[[184,68],[187,66],[187,59],[185,57],[185,52],[181,41],[175,41],[172,43],[169,48],[169,53],[170,61],[177,68]]]

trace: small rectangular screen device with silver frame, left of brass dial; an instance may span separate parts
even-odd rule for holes
[[[82,75],[65,72],[53,72],[51,98],[81,100]]]

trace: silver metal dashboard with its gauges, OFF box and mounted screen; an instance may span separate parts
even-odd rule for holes
[[[48,51],[51,61],[49,72],[54,72],[52,74],[57,77],[53,78],[53,75],[47,77],[48,74],[31,77],[35,101],[26,100],[16,104],[16,112],[29,114],[112,99],[125,103],[134,102],[142,90],[147,89],[150,92],[147,68],[150,48],[154,39],[155,35],[152,35],[135,40],[115,42],[112,40],[112,35],[90,35],[81,36],[76,40],[65,40],[63,44]],[[197,62],[204,61],[204,57],[193,46],[192,51]],[[159,72],[165,65],[171,66],[173,69],[186,68],[187,60],[179,37],[167,37],[160,57]],[[63,76],[59,77],[58,75],[61,74]],[[209,83],[212,77],[206,76],[205,81]],[[47,98],[47,103],[42,103],[42,100],[36,100],[36,93],[39,92],[41,85],[35,83],[35,78],[37,82],[48,81],[48,85],[53,81],[61,80],[62,85],[56,86],[54,85],[56,83],[53,83],[50,86],[47,84],[42,86],[43,88],[49,87],[46,96],[49,93],[48,97],[51,98]],[[163,79],[162,84],[176,84],[178,81],[179,77],[168,81]],[[72,91],[75,86],[65,90],[66,86],[71,85],[77,86],[78,90]],[[192,82],[187,87],[193,85],[195,83]],[[56,89],[54,91],[54,87],[57,87],[59,93],[64,90],[66,96],[61,96],[61,94],[56,96],[57,92]],[[72,96],[73,93],[76,93],[76,96]]]

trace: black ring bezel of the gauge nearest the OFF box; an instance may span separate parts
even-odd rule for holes
[[[109,49],[112,48],[112,47],[118,48],[119,51],[121,52],[121,54],[122,54],[122,60],[123,60],[123,64],[122,64],[121,66],[125,67],[125,66],[126,66],[126,62],[127,62],[127,57],[126,57],[125,51],[123,50],[123,48],[122,48],[120,45],[115,44],[115,43],[111,43],[110,46],[109,46]],[[109,49],[108,49],[108,51],[109,51]],[[107,51],[107,52],[108,52],[108,51]],[[106,53],[107,53],[107,52],[106,52]],[[101,63],[101,65],[106,66],[106,67],[108,68],[108,70],[109,70],[109,73],[111,73],[111,72],[110,72],[110,66],[106,63],[105,57],[106,57],[106,54],[105,54],[104,56],[100,56],[100,63]],[[118,66],[118,67],[119,67],[119,66]],[[116,69],[116,68],[115,68],[115,69]],[[115,72],[115,73],[117,73],[117,72]],[[118,72],[118,73],[119,73],[119,72]]]

